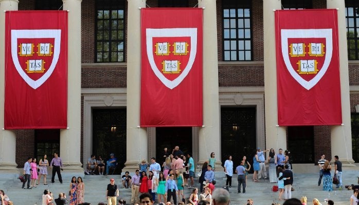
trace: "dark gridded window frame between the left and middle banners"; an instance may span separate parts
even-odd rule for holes
[[[99,11],[102,11],[103,13],[103,18],[98,18],[98,13]],[[105,18],[105,12],[104,11],[108,11],[109,12],[109,17]],[[113,12],[116,12],[116,18],[113,18]],[[122,18],[119,17],[120,13],[119,11],[122,11],[123,15]],[[99,29],[99,21],[104,22],[105,20],[108,20],[108,36],[106,39],[104,39],[105,34],[104,31],[106,31],[106,29],[104,28],[104,26],[102,26],[102,29]],[[118,22],[122,20],[122,29],[118,29]],[[117,25],[117,29],[113,29],[112,28],[112,24],[114,21],[117,21],[116,25]],[[103,24],[104,25],[104,24]],[[102,34],[99,34],[99,32],[103,32]],[[122,31],[122,35],[123,38],[119,39],[118,36],[118,32]],[[116,32],[117,37],[115,39],[113,39],[113,32]],[[102,35],[102,39],[98,39],[98,35]],[[120,1],[116,1],[116,0],[96,0],[95,3],[95,49],[94,49],[94,62],[95,63],[124,63],[125,62],[125,2],[123,0]],[[102,44],[102,47],[99,51],[99,43]],[[113,43],[117,43],[117,50],[114,50],[112,47]],[[122,43],[122,51],[118,50],[118,43]],[[105,44],[107,44],[108,47],[108,51],[106,51],[106,47]],[[98,54],[101,53],[101,60],[99,60],[98,58]],[[108,57],[108,61],[105,61],[105,57],[104,54],[107,53],[107,57]],[[112,55],[116,53],[116,60],[113,60]],[[118,60],[119,56],[122,53],[122,60]]]

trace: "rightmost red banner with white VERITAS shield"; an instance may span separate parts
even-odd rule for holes
[[[278,125],[340,125],[336,9],[277,10]]]

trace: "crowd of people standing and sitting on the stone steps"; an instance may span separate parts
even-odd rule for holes
[[[265,158],[265,152],[268,153],[268,157]],[[32,189],[36,188],[41,180],[41,177],[44,178],[44,185],[46,184],[47,176],[47,167],[52,168],[52,178],[51,182],[55,182],[55,175],[58,174],[60,183],[62,183],[61,172],[62,170],[62,160],[57,153],[53,155],[51,162],[47,160],[47,156],[44,155],[40,159],[39,165],[35,158],[29,157],[24,164],[24,181],[23,189]],[[334,157],[334,176],[337,178],[336,188],[342,188],[342,162],[339,161],[338,156]],[[104,163],[102,158],[99,156],[98,159],[95,155],[87,161],[86,173],[88,175],[106,175],[109,174],[110,168],[115,168],[117,159],[114,154],[110,154],[110,159]],[[269,176],[267,176],[265,163],[269,163]],[[234,169],[234,162],[232,161],[232,156],[228,156],[228,159],[224,162],[224,172],[227,177],[226,185],[224,189],[232,187],[232,176],[234,173],[237,174],[238,178],[238,194],[246,193],[246,184],[247,184],[247,175],[252,167],[251,164],[247,161],[247,157],[243,156],[240,161],[240,165]],[[322,154],[321,158],[318,160],[319,167],[319,180],[318,186],[321,185],[323,181],[322,190],[332,191],[333,190],[333,179],[331,176],[332,166],[329,161],[325,159],[325,155]],[[106,168],[106,170],[104,170]],[[208,161],[203,163],[202,169],[199,172],[199,188],[194,186],[194,161],[191,153],[184,155],[178,146],[176,146],[172,152],[168,152],[167,148],[163,152],[163,163],[159,165],[156,162],[156,158],[152,157],[151,162],[147,163],[143,159],[138,164],[138,170],[136,170],[135,175],[130,176],[129,172],[125,172],[122,175],[122,186],[125,189],[131,188],[131,203],[141,203],[140,196],[151,196],[150,201],[156,200],[159,204],[185,204],[187,201],[189,204],[200,205],[200,204],[216,204],[214,202],[213,193],[216,190],[216,180],[214,179],[214,170],[216,169],[216,158],[215,153],[210,153]],[[282,149],[278,150],[276,154],[274,149],[270,150],[257,150],[253,154],[253,181],[258,182],[260,179],[270,178],[270,182],[277,182],[278,185],[278,199],[286,200],[291,199],[291,191],[293,190],[293,172],[290,152],[285,150],[283,153]],[[106,171],[106,173],[104,173]],[[27,188],[25,188],[27,182]],[[188,187],[192,189],[190,196],[185,197],[184,189]],[[355,186],[353,187],[353,195],[350,197],[350,204],[357,205],[358,199],[358,189]],[[349,189],[349,188],[348,188]],[[68,203],[70,205],[83,204],[84,202],[84,192],[85,185],[81,177],[72,177],[69,185],[69,200],[66,199],[65,193],[59,193],[59,198],[53,199],[52,193],[49,190],[45,190],[43,194],[43,205],[53,204],[55,201],[58,205]],[[145,195],[144,195],[145,194]],[[147,194],[147,195],[146,195]],[[118,187],[115,184],[114,179],[110,180],[109,185],[106,189],[106,200],[107,204],[115,205],[116,200],[119,195]],[[307,204],[307,197],[303,196],[301,199],[301,204]],[[119,204],[124,204],[123,199],[120,199]],[[252,199],[248,199],[247,204],[253,204]],[[332,201],[328,201],[329,205]],[[3,190],[0,190],[0,204],[12,205],[12,202],[9,200],[9,197],[4,193]],[[219,204],[219,203],[217,203]],[[285,204],[285,202],[284,202]],[[319,201],[313,199],[313,205],[321,205]]]

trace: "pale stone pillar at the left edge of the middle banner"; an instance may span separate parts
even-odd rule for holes
[[[139,128],[141,77],[141,10],[146,0],[128,0],[127,16],[127,153],[124,171],[138,169],[141,159],[148,160],[147,129]],[[151,156],[152,157],[152,156]]]

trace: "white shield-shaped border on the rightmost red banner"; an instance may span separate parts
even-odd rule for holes
[[[303,86],[303,88],[310,90],[313,88],[321,77],[328,70],[328,66],[332,59],[333,52],[333,39],[332,39],[332,29],[281,29],[281,42],[282,42],[282,55],[286,68],[292,77],[297,80],[297,82]],[[324,64],[319,68],[319,72],[311,80],[307,81],[303,79],[292,67],[291,61],[289,59],[288,53],[288,38],[325,38],[326,39],[326,55]]]

